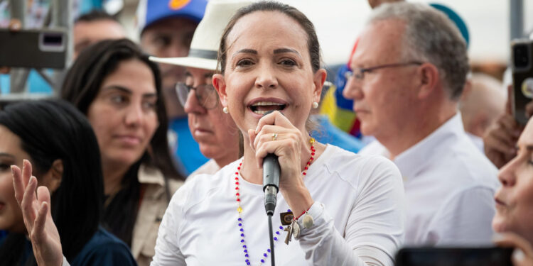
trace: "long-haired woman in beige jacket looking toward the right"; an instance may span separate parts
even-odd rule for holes
[[[182,184],[167,143],[161,75],[131,40],[104,40],[70,68],[61,97],[95,130],[104,173],[104,226],[139,265],[154,255],[159,223]]]

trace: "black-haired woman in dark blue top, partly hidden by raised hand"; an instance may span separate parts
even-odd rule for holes
[[[23,102],[0,111],[0,230],[9,232],[0,240],[0,265],[36,265],[27,240],[34,235],[24,226],[30,221],[23,221],[17,203],[22,193],[16,199],[10,165],[18,177],[20,167],[26,174],[16,184],[37,177],[29,181],[29,194],[43,186],[38,196],[47,202],[48,218],[72,265],[135,265],[128,247],[99,227],[102,168],[95,134],[82,113],[63,101]]]

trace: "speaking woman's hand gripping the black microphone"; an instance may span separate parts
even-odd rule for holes
[[[263,158],[274,153],[278,156],[279,190],[294,214],[301,214],[313,204],[311,194],[303,184],[302,168],[311,157],[311,147],[308,136],[303,135],[298,128],[279,111],[274,111],[262,117],[257,128],[249,130],[250,144],[255,151],[257,165],[262,168]],[[274,138],[274,134],[276,137]]]

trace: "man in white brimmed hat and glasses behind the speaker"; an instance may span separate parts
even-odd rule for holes
[[[211,76],[217,69],[217,50],[222,31],[237,9],[252,1],[210,1],[196,28],[188,56],[150,60],[186,67],[184,82],[176,84],[178,99],[188,114],[188,126],[200,151],[210,158],[190,174],[214,174],[239,157],[239,130],[222,111]]]

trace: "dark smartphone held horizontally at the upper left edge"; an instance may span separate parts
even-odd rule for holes
[[[55,68],[65,67],[66,31],[0,29],[0,66]]]

